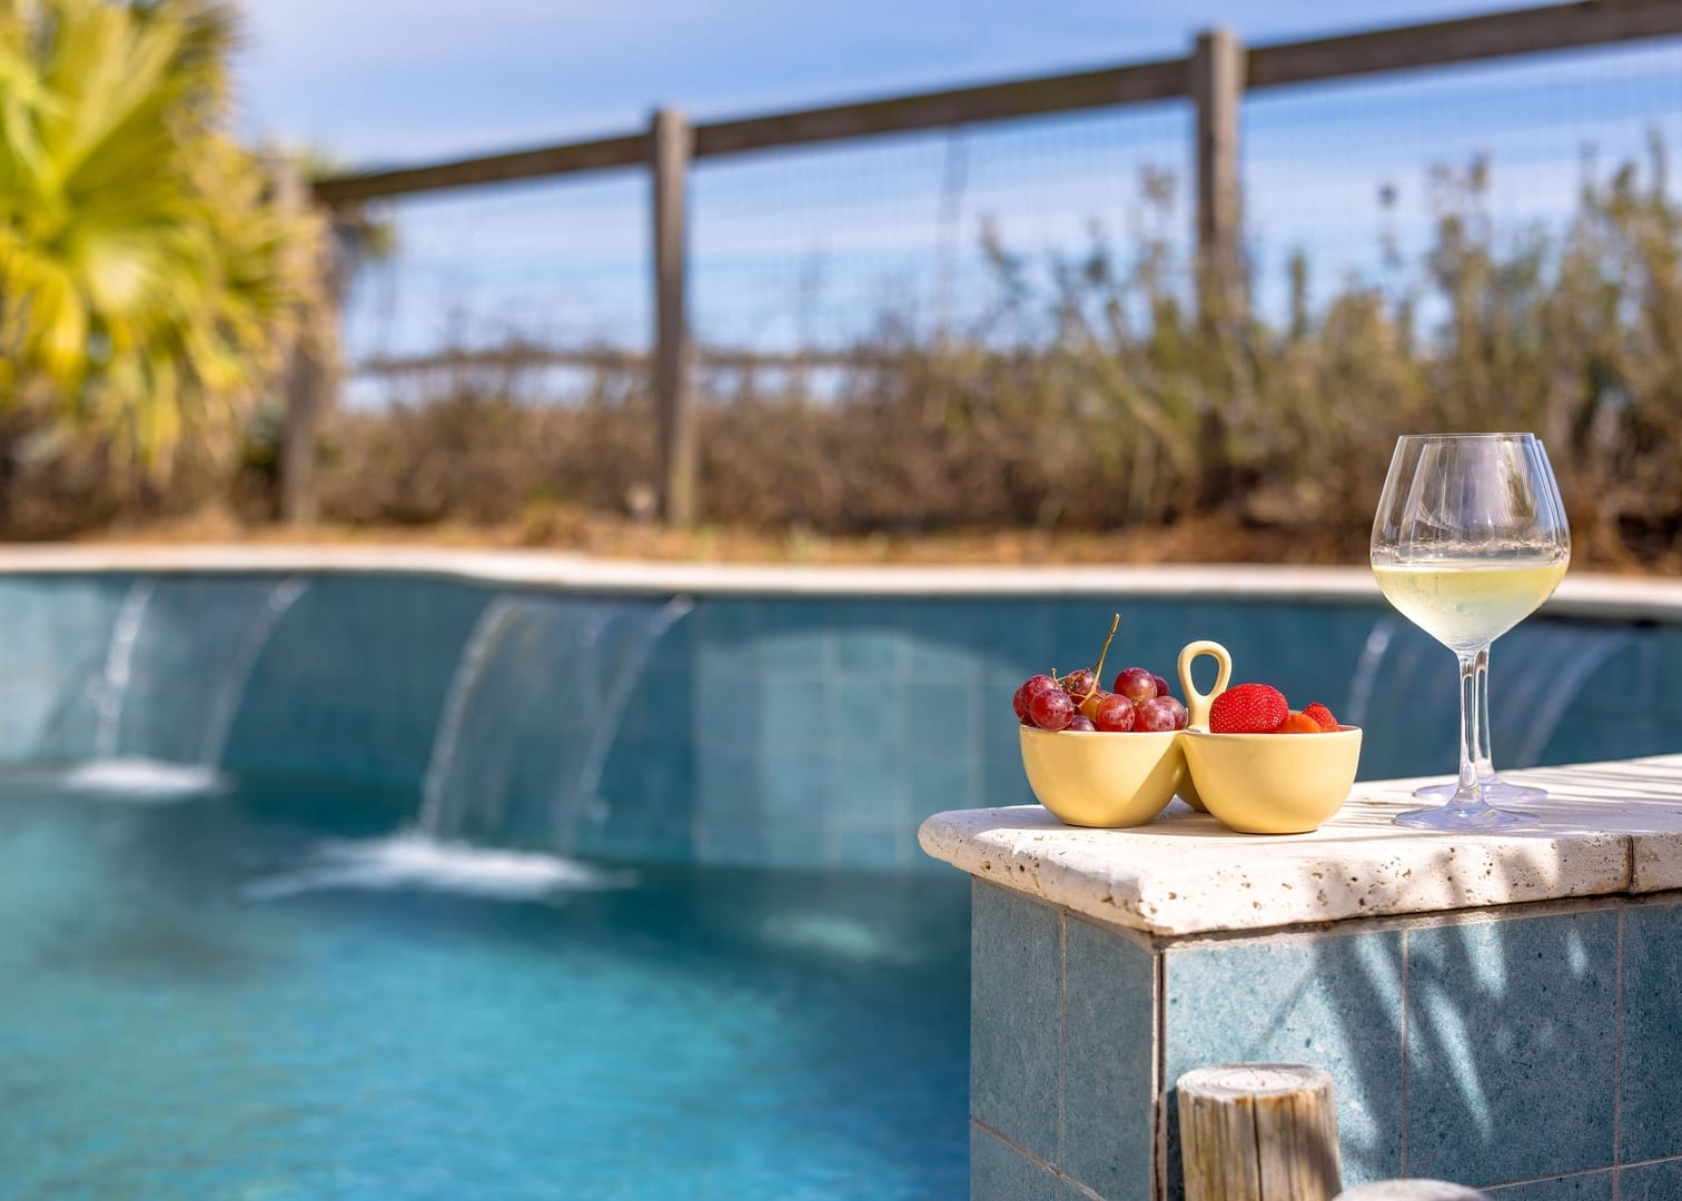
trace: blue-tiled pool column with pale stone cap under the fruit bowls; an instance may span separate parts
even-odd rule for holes
[[[1246,900],[1295,891],[1292,875],[1211,860],[1199,910],[1189,876],[1152,893],[1149,863],[1105,875],[1085,858],[1152,854],[1152,828],[1071,831],[1038,809],[930,819],[925,848],[976,876],[971,1196],[1176,1201],[1174,1082],[1285,1061],[1332,1075],[1346,1184],[1421,1176],[1500,1201],[1682,1198],[1682,759],[1648,764],[1638,816],[1608,802],[1610,833],[1514,839],[1505,873],[1489,868],[1502,861],[1494,846],[1396,831],[1411,846],[1361,851],[1346,876],[1388,912],[1336,922],[1270,925],[1314,910],[1270,895],[1245,925]],[[1297,856],[1304,883],[1336,871],[1329,846],[1315,858],[1300,839],[1223,838],[1189,812],[1166,821],[1159,841],[1208,839],[1228,863],[1272,846]],[[1643,833],[1620,836],[1618,823]],[[1394,828],[1356,829],[1383,843]],[[1591,853],[1571,849],[1578,839]],[[1489,873],[1489,895],[1448,876],[1435,883],[1462,903],[1410,902],[1411,871],[1441,861],[1421,846],[1475,858],[1468,876]],[[1384,871],[1394,886],[1381,886]],[[1532,895],[1559,898],[1524,903]],[[1152,897],[1167,898],[1157,929],[1129,925]],[[1181,923],[1198,929],[1174,934]]]

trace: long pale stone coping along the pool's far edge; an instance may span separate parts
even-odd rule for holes
[[[577,592],[764,597],[1182,597],[1383,604],[1364,567],[804,567],[594,558],[553,550],[234,543],[47,543],[0,548],[0,574],[395,574]],[[1573,572],[1552,616],[1682,622],[1682,582]]]

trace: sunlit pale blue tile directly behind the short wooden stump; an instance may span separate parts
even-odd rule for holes
[[[1164,1087],[1176,1196],[1179,1102],[1172,1083],[1218,1063],[1327,1070],[1337,1097],[1344,1181],[1401,1174],[1401,955],[1398,930],[1167,950]]]

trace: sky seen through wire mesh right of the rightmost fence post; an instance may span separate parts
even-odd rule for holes
[[[1258,93],[1245,103],[1245,241],[1256,313],[1421,286],[1445,219],[1514,249],[1564,237],[1584,188],[1682,151],[1682,42]],[[1672,197],[1677,180],[1660,182]]]

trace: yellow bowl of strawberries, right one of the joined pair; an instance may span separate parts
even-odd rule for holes
[[[1182,750],[1198,796],[1221,824],[1305,834],[1349,797],[1361,730],[1339,725],[1325,705],[1292,710],[1272,685],[1243,683],[1211,700],[1208,730],[1189,730]]]

